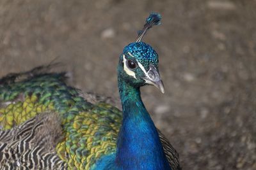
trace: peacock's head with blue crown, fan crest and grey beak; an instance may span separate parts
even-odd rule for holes
[[[134,43],[125,46],[118,64],[118,76],[133,87],[154,85],[164,93],[164,85],[158,71],[157,52],[141,41],[148,29],[159,25],[161,15],[151,13],[146,20],[143,30],[138,31],[138,38]]]

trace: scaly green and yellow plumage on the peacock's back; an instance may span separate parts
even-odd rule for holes
[[[56,152],[68,167],[89,169],[101,155],[115,152],[122,115],[110,104],[88,103],[63,79],[64,74],[40,74],[1,85],[1,126],[11,129],[38,113],[56,111],[64,136]]]

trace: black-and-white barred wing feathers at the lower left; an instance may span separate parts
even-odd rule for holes
[[[0,169],[67,169],[53,147],[60,140],[60,130],[55,113],[42,113],[0,131]]]

